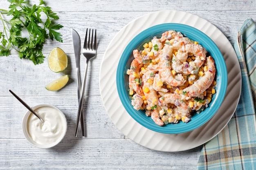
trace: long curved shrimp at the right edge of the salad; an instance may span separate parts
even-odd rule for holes
[[[206,62],[206,65],[209,67],[208,71],[205,71],[204,75],[194,82],[194,84],[183,89],[183,91],[186,92],[186,95],[197,97],[211,86],[216,73],[215,63],[211,56],[207,58]]]

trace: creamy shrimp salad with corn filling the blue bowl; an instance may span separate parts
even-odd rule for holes
[[[216,93],[216,67],[198,42],[177,31],[166,31],[133,51],[127,70],[129,95],[136,110],[163,126],[188,123],[207,108]]]

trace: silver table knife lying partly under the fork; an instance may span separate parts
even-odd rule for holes
[[[75,60],[76,60],[76,80],[77,80],[77,98],[78,102],[80,99],[80,91],[81,91],[81,76],[80,76],[80,51],[81,51],[81,40],[79,34],[72,29],[72,39],[73,39],[73,46],[74,46],[74,53],[75,53]],[[84,122],[83,122],[83,109],[80,118],[82,135],[84,136]]]

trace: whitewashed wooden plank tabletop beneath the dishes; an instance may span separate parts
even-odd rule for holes
[[[31,4],[38,3],[31,0]],[[58,14],[63,43],[47,41],[45,56],[56,46],[68,56],[68,67],[63,73],[53,73],[45,62],[34,65],[20,60],[12,51],[0,57],[0,169],[177,169],[194,170],[201,146],[182,152],[150,150],[128,139],[112,124],[99,93],[99,70],[103,54],[116,33],[132,20],[164,9],[175,9],[199,15],[216,25],[234,44],[238,29],[247,18],[256,21],[255,0],[46,0]],[[2,9],[9,7],[1,0]],[[74,137],[78,108],[76,71],[71,28],[85,37],[86,28],[97,29],[99,40],[97,57],[89,64],[85,90],[86,137]],[[0,24],[2,31],[2,24]],[[84,64],[83,64],[84,63]],[[81,71],[85,58],[81,55]],[[47,91],[45,85],[61,75],[70,76],[69,83],[58,92]],[[51,149],[40,149],[29,144],[21,130],[22,117],[27,111],[9,93],[19,95],[30,106],[53,104],[67,117],[67,134]]]

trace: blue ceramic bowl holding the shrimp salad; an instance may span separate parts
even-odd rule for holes
[[[128,94],[128,75],[127,69],[130,69],[130,64],[134,59],[132,51],[134,49],[143,49],[143,44],[153,39],[154,36],[161,37],[162,33],[168,30],[180,31],[184,36],[191,40],[199,42],[206,50],[207,55],[211,55],[216,64],[216,94],[213,95],[212,101],[209,106],[200,114],[195,114],[191,118],[191,121],[184,123],[180,121],[177,124],[167,124],[164,126],[158,126],[151,119],[145,115],[144,110],[135,110],[131,104],[131,96]],[[179,134],[194,130],[203,124],[205,124],[213,115],[217,112],[222,104],[227,89],[227,68],[225,60],[218,49],[217,45],[204,33],[191,26],[184,24],[159,24],[152,26],[141,33],[139,33],[131,42],[126,46],[126,49],[121,55],[119,64],[117,67],[117,91],[121,99],[122,104],[126,111],[142,126],[161,133]]]

